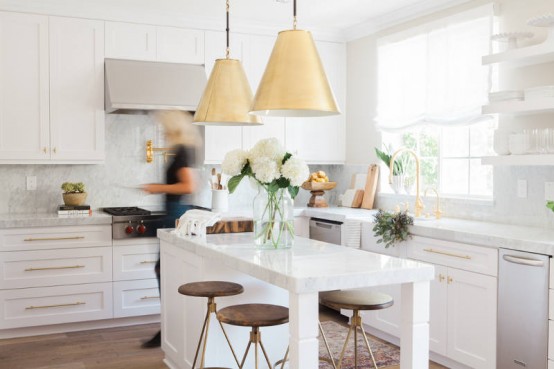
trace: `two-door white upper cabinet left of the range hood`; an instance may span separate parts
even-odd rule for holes
[[[0,163],[104,159],[104,22],[0,13]]]

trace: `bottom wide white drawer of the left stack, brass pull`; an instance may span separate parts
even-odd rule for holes
[[[112,318],[112,284],[0,291],[0,329]]]

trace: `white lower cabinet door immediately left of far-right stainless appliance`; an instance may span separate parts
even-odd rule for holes
[[[496,368],[496,278],[449,268],[448,357]]]

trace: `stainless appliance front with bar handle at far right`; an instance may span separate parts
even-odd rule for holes
[[[549,256],[499,249],[497,368],[548,366]]]

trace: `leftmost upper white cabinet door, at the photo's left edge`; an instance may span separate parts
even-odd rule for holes
[[[0,12],[0,159],[50,159],[48,73],[48,17]]]

